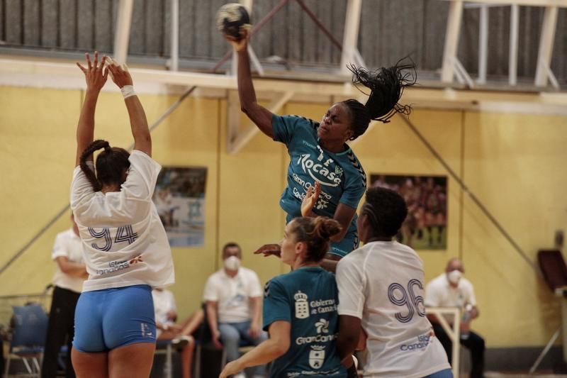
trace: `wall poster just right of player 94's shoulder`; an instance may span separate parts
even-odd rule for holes
[[[201,247],[205,240],[205,167],[162,167],[154,203],[172,247]]]

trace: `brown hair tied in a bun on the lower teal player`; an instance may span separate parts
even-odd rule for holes
[[[291,232],[296,242],[307,244],[305,261],[320,262],[329,251],[329,239],[341,232],[342,227],[335,219],[326,216],[317,218],[295,218]]]

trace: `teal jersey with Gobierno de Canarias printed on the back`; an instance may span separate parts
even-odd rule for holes
[[[274,277],[264,286],[264,330],[291,324],[289,349],[276,358],[270,377],[347,377],[336,348],[339,294],[335,276],[321,267],[303,267]]]

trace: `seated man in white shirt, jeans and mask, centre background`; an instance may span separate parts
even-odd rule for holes
[[[223,247],[223,269],[208,277],[205,285],[206,316],[213,343],[225,348],[227,361],[237,360],[242,345],[266,340],[262,331],[262,287],[257,274],[240,266],[242,251],[236,243]],[[257,367],[263,375],[265,367]],[[241,372],[235,378],[245,377]]]

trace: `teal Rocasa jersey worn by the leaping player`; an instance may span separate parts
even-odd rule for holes
[[[319,123],[308,118],[274,114],[271,125],[274,140],[285,143],[290,157],[288,185],[280,199],[288,221],[301,216],[301,201],[315,180],[321,184],[321,194],[313,208],[315,214],[333,218],[341,203],[357,209],[366,191],[366,174],[348,146],[339,153],[321,148],[317,136]],[[356,229],[357,216],[354,216],[349,232],[356,233]]]

